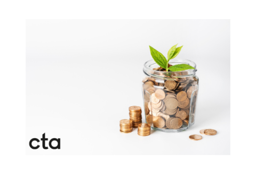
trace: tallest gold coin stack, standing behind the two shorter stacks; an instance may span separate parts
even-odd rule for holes
[[[130,120],[132,121],[132,127],[138,128],[138,125],[142,123],[141,107],[131,106],[129,107]]]

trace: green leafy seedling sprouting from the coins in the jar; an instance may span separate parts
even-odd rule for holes
[[[177,47],[178,44],[172,46],[172,48],[169,49],[169,52],[167,54],[167,60],[164,57],[164,55],[160,52],[158,52],[155,48],[149,46],[151,56],[153,57],[156,64],[161,66],[166,71],[183,71],[183,70],[189,70],[189,69],[195,69],[193,66],[190,66],[188,64],[177,64],[172,65],[168,67],[169,61],[173,58],[177,57],[177,55],[180,53],[180,50],[183,46]]]

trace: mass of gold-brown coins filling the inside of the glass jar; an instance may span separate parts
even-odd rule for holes
[[[156,70],[161,71],[161,67]],[[142,87],[147,123],[161,129],[180,129],[194,123],[198,92],[196,77],[175,78],[171,75],[169,80],[146,77]]]

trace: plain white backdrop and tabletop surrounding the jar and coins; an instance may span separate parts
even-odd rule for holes
[[[27,154],[229,155],[229,20],[28,20],[26,24]],[[119,132],[128,107],[142,106],[142,66],[149,45],[197,64],[195,124],[149,137]],[[145,116],[142,115],[145,122]],[[191,141],[201,129],[217,135]],[[60,150],[33,150],[32,138],[61,138]],[[48,145],[48,143],[47,143]]]

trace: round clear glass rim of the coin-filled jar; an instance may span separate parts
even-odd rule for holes
[[[190,60],[186,60],[186,59],[172,59],[169,61],[169,64],[171,65],[177,65],[177,64],[188,64],[193,66],[195,69],[190,69],[190,70],[184,70],[184,71],[156,71],[153,70],[157,67],[159,67],[158,64],[156,64],[156,62],[154,60],[149,60],[144,64],[143,67],[143,72],[145,74],[148,74],[149,76],[153,76],[153,77],[161,77],[161,78],[166,78],[166,79],[170,79],[170,78],[182,78],[182,77],[190,77],[192,75],[194,75],[197,71],[196,69],[196,63],[194,63],[193,61]]]

